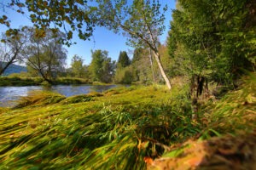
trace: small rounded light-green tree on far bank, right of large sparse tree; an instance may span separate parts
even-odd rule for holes
[[[78,55],[74,55],[71,61],[72,73],[75,77],[82,78],[85,75],[84,60]]]

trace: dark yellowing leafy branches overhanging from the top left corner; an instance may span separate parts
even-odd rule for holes
[[[67,45],[71,44],[69,40],[73,38],[73,31],[78,31],[79,38],[88,39],[94,27],[91,18],[96,17],[91,15],[91,11],[95,8],[90,8],[86,0],[8,0],[0,3],[0,8],[3,11],[5,8],[9,8],[19,14],[25,14],[28,11],[33,25],[43,30],[49,26],[54,26],[56,29],[61,28],[67,34],[67,37],[62,37],[61,41]],[[8,13],[0,15],[0,24],[11,28]]]

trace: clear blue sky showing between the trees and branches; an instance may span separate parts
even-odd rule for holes
[[[6,0],[0,0],[6,1]],[[166,11],[166,31],[160,37],[160,42],[166,42],[167,32],[170,29],[170,20],[172,18],[172,9],[175,8],[175,1],[174,0],[160,0],[161,4],[168,5],[168,11]],[[19,26],[32,26],[30,20],[19,13],[14,11],[6,10],[6,15],[11,20],[11,26],[13,28],[17,28]],[[0,9],[0,15],[3,14],[3,9]],[[6,31],[6,26],[0,25],[0,32]],[[122,34],[117,35],[114,34],[112,31],[108,31],[102,27],[96,27],[96,30],[93,33],[93,37],[91,37],[90,41],[80,40],[78,37],[73,36],[73,42],[77,42],[77,44],[72,45],[70,48],[67,48],[67,66],[70,65],[71,59],[74,54],[78,54],[84,59],[84,64],[90,64],[91,60],[91,50],[102,49],[108,51],[108,56],[111,57],[113,60],[117,60],[119,57],[120,51],[126,51],[127,54],[132,57],[132,50],[133,48],[127,46],[125,44],[126,38],[122,36]]]

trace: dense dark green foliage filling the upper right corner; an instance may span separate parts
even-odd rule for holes
[[[178,1],[168,38],[172,74],[230,85],[243,70],[252,70],[254,6],[253,1]]]

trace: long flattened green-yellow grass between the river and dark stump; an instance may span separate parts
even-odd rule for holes
[[[180,139],[195,133],[184,116],[189,113],[180,115],[171,107],[177,102],[162,87],[117,88],[67,99],[33,94],[21,101],[1,113],[2,169],[143,168],[144,156],[164,151],[159,142],[177,138],[175,129]]]

